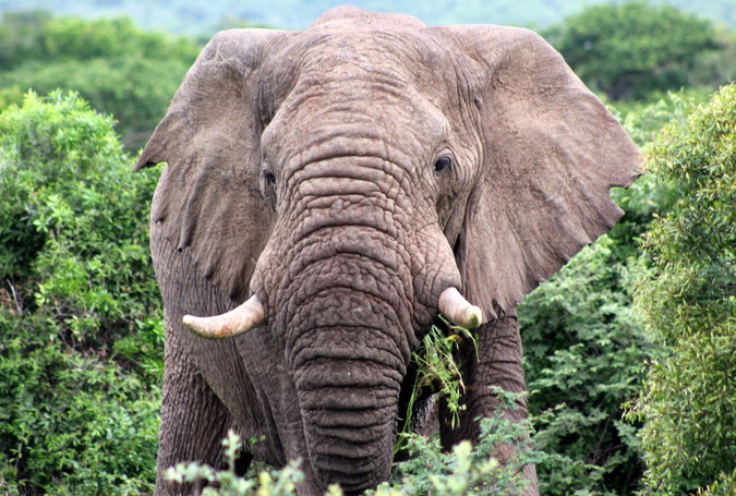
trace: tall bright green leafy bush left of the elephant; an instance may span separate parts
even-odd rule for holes
[[[131,166],[112,120],[73,95],[0,113],[0,492],[152,488],[156,178]]]

